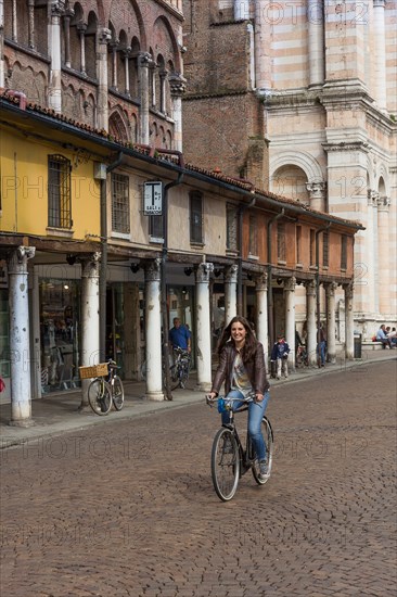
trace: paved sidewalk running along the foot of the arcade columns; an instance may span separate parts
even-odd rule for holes
[[[396,360],[397,350],[368,351],[362,353],[361,359],[346,361],[337,358],[334,365],[328,364],[324,368],[296,369],[289,379],[271,379],[271,388],[280,384],[291,384],[307,380],[312,376],[323,377],[331,372],[345,372],[355,369],[359,371],[368,363]],[[397,367],[396,367],[397,371]],[[105,417],[99,417],[90,407],[80,411],[80,390],[46,395],[41,399],[33,401],[33,424],[27,428],[10,425],[10,404],[0,405],[0,448],[18,445],[33,439],[60,435],[68,431],[78,431],[92,425],[100,425],[121,419],[137,418],[170,408],[181,408],[189,404],[204,401],[203,391],[196,390],[196,376],[192,373],[188,388],[172,392],[174,399],[152,402],[145,399],[145,384],[142,382],[125,382],[125,405],[121,411],[112,410]]]

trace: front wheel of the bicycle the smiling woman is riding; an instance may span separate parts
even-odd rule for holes
[[[222,501],[234,496],[240,478],[239,446],[230,429],[221,428],[214,439],[210,456],[214,488]]]

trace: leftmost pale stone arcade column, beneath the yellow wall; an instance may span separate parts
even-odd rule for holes
[[[36,247],[18,246],[8,258],[10,289],[11,421],[29,427],[31,420],[30,339],[27,262]]]

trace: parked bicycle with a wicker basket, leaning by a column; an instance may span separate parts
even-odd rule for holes
[[[117,369],[120,367],[112,359],[93,367],[79,367],[81,379],[95,376],[88,386],[88,403],[97,415],[107,415],[112,405],[116,410],[124,406],[124,386]]]

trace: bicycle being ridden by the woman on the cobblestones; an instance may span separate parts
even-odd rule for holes
[[[249,403],[252,399],[247,398],[244,402]],[[220,401],[223,401],[223,403],[220,403]],[[265,485],[268,482],[272,467],[274,437],[270,421],[264,416],[261,428],[266,446],[267,474],[262,478],[260,477],[259,462],[255,456],[249,435],[247,433],[246,445],[243,446],[234,421],[234,414],[247,410],[248,406],[242,406],[233,412],[231,404],[232,402],[242,402],[240,398],[222,398],[221,396],[210,398],[210,396],[206,396],[206,403],[210,407],[215,402],[218,402],[218,410],[220,403],[230,411],[230,423],[222,425],[214,437],[210,455],[212,479],[218,497],[222,501],[229,501],[234,497],[241,477],[249,469],[253,471],[253,477],[258,485]]]

